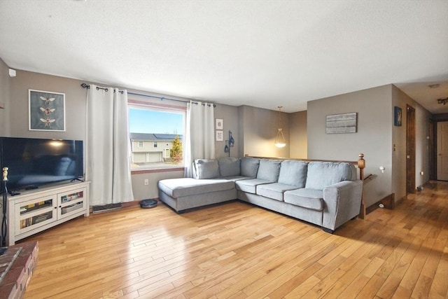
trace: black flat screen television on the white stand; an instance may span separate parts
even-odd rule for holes
[[[8,167],[9,193],[80,179],[83,141],[0,137],[0,164]]]

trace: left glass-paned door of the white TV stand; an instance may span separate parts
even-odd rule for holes
[[[54,195],[41,197],[15,204],[15,213],[19,221],[15,221],[16,234],[21,234],[41,227],[56,219],[57,200]]]

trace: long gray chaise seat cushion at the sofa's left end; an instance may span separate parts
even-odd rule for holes
[[[215,191],[230,190],[235,188],[233,181],[225,179],[164,179],[159,181],[158,187],[165,194],[177,198],[188,195],[198,195]]]

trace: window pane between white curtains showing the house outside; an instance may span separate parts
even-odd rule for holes
[[[182,107],[176,110],[130,103],[131,169],[183,167],[185,118]]]

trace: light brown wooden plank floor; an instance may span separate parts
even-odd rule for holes
[[[25,298],[447,298],[448,183],[335,235],[232,202],[127,207],[29,239]]]

